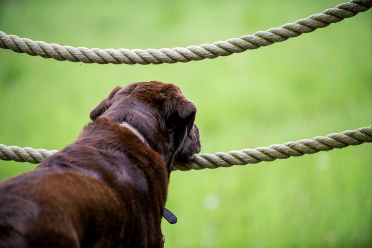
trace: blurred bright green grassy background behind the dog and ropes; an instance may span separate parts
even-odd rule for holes
[[[73,47],[186,47],[288,22],[341,0],[0,0],[0,31]],[[116,85],[175,83],[198,108],[202,153],[369,126],[371,10],[269,47],[199,62],[99,65],[0,50],[0,143],[60,150]],[[171,175],[166,247],[372,246],[371,144]],[[0,161],[0,180],[36,165]]]

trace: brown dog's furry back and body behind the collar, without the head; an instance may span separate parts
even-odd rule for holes
[[[93,130],[93,137],[85,136]],[[115,144],[99,143],[103,136]],[[118,124],[99,120],[34,171],[0,183],[0,248],[146,246],[145,227],[151,226],[146,222],[154,215],[160,221],[164,206],[155,207],[156,214],[154,204],[165,202],[156,199],[162,196],[152,187],[160,186],[148,183],[155,176],[148,168],[163,169],[156,176],[163,178],[163,191],[168,185],[165,165],[158,164],[164,162],[137,139]]]

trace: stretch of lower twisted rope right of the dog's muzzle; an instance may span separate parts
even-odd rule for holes
[[[372,125],[354,130],[347,130],[341,134],[328,134],[317,136],[311,140],[298,140],[287,142],[282,145],[270,145],[255,149],[243,149],[228,153],[202,154],[195,156],[190,164],[177,164],[180,171],[202,170],[205,168],[215,169],[218,167],[231,167],[233,165],[257,164],[262,161],[274,161],[276,159],[289,158],[314,154],[320,151],[329,151],[334,148],[344,148],[349,145],[360,145],[364,142],[372,142]]]

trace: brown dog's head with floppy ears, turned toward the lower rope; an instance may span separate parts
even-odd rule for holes
[[[150,147],[164,157],[171,172],[175,162],[191,162],[200,152],[196,107],[174,84],[131,83],[115,87],[90,114],[137,128]]]

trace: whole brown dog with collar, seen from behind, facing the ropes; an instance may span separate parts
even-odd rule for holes
[[[113,89],[75,142],[0,183],[0,248],[162,247],[173,165],[200,152],[195,113],[173,84]]]

